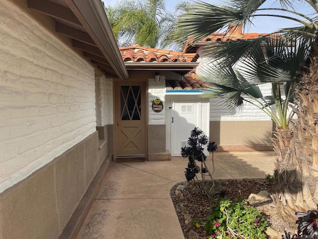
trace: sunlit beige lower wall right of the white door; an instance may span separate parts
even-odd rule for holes
[[[218,144],[218,151],[268,150],[272,131],[270,120],[210,121],[210,141]]]

